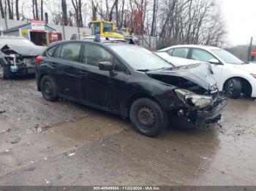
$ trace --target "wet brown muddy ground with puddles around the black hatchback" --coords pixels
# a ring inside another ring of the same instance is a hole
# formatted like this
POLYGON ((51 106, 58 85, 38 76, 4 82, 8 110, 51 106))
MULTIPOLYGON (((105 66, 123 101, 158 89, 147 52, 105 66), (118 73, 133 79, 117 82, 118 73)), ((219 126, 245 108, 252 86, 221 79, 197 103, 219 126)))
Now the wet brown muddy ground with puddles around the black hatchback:
POLYGON ((0 80, 0 185, 256 185, 256 102, 210 128, 141 136, 119 117, 0 80))

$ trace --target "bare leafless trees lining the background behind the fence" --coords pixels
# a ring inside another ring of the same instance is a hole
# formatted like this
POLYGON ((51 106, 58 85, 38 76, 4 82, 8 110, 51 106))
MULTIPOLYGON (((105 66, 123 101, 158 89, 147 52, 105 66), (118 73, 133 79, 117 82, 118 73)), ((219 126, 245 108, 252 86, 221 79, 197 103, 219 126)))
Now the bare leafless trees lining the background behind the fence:
POLYGON ((113 20, 166 44, 221 46, 226 31, 220 6, 221 0, 0 0, 0 16, 78 27, 113 20))

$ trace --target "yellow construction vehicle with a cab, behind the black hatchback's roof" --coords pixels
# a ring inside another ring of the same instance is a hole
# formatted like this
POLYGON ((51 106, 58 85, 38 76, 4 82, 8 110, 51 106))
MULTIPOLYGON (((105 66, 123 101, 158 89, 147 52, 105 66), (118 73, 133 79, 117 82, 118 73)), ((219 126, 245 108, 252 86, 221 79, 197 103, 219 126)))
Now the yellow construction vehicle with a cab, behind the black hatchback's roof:
POLYGON ((116 31, 116 26, 114 22, 105 20, 94 20, 89 23, 89 28, 91 28, 92 35, 99 34, 101 36, 124 39, 124 35, 116 31))

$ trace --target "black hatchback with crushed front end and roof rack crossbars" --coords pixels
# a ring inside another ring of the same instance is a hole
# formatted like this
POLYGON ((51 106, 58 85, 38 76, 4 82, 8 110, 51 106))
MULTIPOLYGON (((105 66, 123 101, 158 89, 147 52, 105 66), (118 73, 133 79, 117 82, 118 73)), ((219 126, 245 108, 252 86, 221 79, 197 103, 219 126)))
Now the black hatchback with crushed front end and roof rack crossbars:
POLYGON ((38 90, 119 114, 157 136, 173 123, 217 122, 227 106, 207 63, 174 67, 135 44, 56 42, 37 57, 38 90))

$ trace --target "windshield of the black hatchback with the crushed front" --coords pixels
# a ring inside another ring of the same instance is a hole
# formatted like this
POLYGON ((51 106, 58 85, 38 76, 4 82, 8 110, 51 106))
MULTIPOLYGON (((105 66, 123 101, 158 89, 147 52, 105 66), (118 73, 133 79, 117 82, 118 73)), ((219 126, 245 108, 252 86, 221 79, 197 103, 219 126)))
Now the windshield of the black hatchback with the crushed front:
POLYGON ((124 59, 135 70, 151 71, 157 69, 171 68, 170 63, 160 58, 143 47, 134 45, 110 45, 121 58, 124 59))

